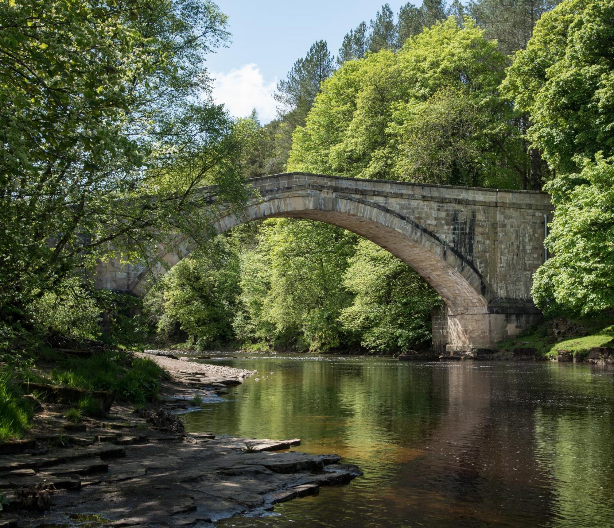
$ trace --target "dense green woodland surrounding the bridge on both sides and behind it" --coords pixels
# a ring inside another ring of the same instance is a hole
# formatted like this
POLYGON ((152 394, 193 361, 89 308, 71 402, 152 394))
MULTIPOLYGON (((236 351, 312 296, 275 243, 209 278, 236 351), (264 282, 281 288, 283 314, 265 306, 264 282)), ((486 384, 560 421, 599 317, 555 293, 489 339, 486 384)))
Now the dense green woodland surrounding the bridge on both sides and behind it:
POLYGON ((0 20, 6 351, 428 346, 440 298, 375 244, 292 219, 213 236, 197 187, 240 208, 245 179, 286 171, 543 188, 556 218, 535 303, 614 308, 613 0, 386 4, 336 55, 314 42, 266 125, 211 98, 204 58, 229 35, 209 0, 11 0, 0 20), (199 249, 142 305, 93 289, 97 260, 153 263, 177 231, 199 249))

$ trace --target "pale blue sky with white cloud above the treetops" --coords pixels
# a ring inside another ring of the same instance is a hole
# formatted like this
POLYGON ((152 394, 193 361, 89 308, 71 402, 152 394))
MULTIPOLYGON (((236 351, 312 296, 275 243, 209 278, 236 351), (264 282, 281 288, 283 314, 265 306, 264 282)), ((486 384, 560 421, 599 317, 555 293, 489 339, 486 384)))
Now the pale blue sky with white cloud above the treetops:
MULTIPOLYGON (((395 13, 405 1, 389 1, 395 13)), ((273 91, 292 64, 319 39, 335 53, 344 34, 375 18, 381 0, 218 0, 232 42, 208 57, 214 97, 235 117, 256 108, 263 123, 275 114, 273 91)), ((422 4, 421 0, 415 2, 422 4)))

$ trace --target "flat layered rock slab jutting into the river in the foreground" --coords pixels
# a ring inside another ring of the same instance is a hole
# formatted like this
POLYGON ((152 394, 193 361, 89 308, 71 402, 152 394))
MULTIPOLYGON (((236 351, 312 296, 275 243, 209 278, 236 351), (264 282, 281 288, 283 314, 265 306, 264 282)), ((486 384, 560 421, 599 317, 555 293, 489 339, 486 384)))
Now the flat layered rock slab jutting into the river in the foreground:
MULTIPOLYGON (((246 442, 270 448, 287 446, 298 439, 204 440, 126 446, 122 459, 72 458, 55 467, 39 468, 40 473, 34 477, 28 473, 13 479, 47 478, 66 483, 63 487, 68 489, 53 492, 58 515, 87 510, 106 519, 105 526, 190 526, 194 519, 215 522, 235 514, 270 511, 274 504, 317 494, 321 484, 344 483, 360 474, 355 466, 338 464, 340 457, 333 454, 244 451, 246 442), (80 482, 88 485, 82 485, 80 491, 69 489, 68 484, 78 486, 80 482)), ((68 452, 64 459, 72 456, 72 451, 94 453, 91 448, 58 451, 68 452)), ((59 459, 55 452, 45 463, 52 459, 59 459)))

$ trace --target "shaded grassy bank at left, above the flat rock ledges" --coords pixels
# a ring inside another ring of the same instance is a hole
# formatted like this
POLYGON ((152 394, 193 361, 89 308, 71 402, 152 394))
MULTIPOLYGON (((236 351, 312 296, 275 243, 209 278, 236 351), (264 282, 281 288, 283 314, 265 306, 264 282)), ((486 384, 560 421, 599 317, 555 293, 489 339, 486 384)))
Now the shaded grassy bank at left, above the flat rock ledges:
MULTIPOLYGON (((105 390, 114 392, 116 400, 140 406, 157 400, 160 381, 167 376, 152 360, 122 350, 86 350, 76 356, 40 349, 33 357, 0 364, 0 441, 23 437, 32 423, 33 410, 21 391, 22 382, 105 390)), ((96 405, 87 396, 66 411, 72 421, 95 414, 96 405)))

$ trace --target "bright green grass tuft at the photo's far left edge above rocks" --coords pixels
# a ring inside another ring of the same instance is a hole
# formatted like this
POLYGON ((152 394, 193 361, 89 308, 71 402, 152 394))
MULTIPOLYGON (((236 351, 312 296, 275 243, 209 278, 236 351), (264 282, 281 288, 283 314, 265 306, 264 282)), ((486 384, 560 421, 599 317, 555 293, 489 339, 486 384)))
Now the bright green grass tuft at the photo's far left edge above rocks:
POLYGON ((21 438, 30 425, 32 407, 22 396, 12 371, 0 371, 0 441, 21 438))

